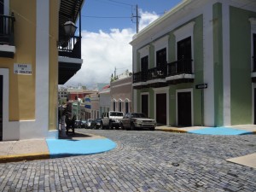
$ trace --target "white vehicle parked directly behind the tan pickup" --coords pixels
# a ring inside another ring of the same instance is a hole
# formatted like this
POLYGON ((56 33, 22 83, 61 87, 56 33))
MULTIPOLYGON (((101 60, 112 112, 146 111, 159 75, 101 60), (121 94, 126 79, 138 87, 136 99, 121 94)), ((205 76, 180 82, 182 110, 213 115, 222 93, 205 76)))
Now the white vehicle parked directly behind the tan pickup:
POLYGON ((117 112, 117 111, 109 111, 107 113, 102 113, 102 123, 101 128, 104 129, 105 127, 107 129, 113 129, 113 128, 119 128, 120 119, 122 119, 124 116, 123 112, 117 112))

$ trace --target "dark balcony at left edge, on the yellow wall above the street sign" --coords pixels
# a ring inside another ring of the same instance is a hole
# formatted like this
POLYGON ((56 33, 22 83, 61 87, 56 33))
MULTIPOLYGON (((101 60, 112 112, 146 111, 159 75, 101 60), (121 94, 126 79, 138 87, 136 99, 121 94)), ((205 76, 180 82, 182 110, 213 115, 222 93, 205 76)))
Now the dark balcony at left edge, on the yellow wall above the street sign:
POLYGON ((14 14, 0 15, 0 57, 15 56, 15 17, 14 14))

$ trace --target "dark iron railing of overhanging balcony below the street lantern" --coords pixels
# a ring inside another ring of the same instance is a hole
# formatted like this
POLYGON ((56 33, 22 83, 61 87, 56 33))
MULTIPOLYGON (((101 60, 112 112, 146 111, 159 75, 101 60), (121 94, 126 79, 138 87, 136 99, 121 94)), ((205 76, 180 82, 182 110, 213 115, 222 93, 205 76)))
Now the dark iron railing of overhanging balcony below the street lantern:
POLYGON ((81 38, 74 36, 59 43, 59 56, 81 59, 81 38))

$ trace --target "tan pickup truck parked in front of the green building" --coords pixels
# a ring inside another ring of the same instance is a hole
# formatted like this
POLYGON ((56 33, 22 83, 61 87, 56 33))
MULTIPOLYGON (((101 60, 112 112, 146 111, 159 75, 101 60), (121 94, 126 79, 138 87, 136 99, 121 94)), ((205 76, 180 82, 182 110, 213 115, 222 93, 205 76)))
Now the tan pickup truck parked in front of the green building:
POLYGON ((125 117, 120 122, 121 129, 150 129, 154 131, 156 121, 149 119, 144 113, 126 113, 125 117))

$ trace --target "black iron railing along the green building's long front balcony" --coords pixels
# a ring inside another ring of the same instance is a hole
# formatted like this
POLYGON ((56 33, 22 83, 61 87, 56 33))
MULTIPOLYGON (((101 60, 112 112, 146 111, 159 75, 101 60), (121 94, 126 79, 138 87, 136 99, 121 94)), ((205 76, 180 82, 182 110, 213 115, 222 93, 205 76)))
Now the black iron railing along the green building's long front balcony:
POLYGON ((193 60, 179 60, 163 64, 148 70, 133 73, 133 83, 145 82, 153 79, 165 79, 178 74, 192 74, 193 60))

